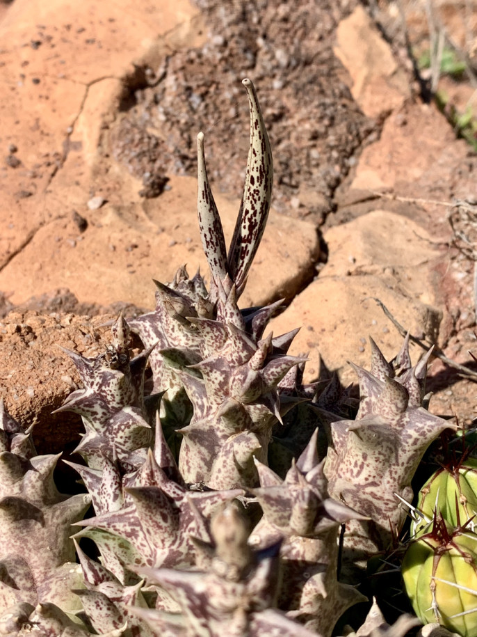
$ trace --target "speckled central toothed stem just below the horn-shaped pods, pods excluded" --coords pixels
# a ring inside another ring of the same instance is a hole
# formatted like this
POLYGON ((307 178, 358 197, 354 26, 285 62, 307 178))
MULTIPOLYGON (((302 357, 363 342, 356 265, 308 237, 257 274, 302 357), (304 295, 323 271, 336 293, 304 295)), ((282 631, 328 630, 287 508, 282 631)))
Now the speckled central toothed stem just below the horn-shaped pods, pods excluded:
MULTIPOLYGON (((225 306, 236 315, 233 289, 231 294, 225 306)), ((195 320, 195 325, 211 349, 192 368, 202 377, 179 372, 193 404, 191 423, 179 430, 184 437, 179 469, 186 482, 213 489, 256 486, 253 459, 266 462, 273 425, 295 404, 280 402, 278 384, 305 359, 276 354, 271 337, 255 344, 233 323, 195 320)))

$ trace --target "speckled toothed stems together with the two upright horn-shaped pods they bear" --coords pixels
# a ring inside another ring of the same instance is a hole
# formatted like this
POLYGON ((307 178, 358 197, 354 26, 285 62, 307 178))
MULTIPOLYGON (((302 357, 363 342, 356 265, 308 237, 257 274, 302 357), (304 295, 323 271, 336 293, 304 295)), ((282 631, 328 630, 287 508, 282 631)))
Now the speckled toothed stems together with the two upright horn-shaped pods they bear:
POLYGON ((151 354, 155 390, 166 391, 171 402, 184 388, 192 403, 190 423, 178 430, 181 474, 188 484, 213 489, 258 484, 253 459, 266 462, 273 426, 294 404, 280 402, 278 385, 303 360, 286 356, 294 333, 261 338, 277 304, 245 315, 237 306, 264 232, 273 181, 257 94, 250 80, 243 84, 250 102, 250 150, 228 254, 207 178, 204 136, 197 136, 197 212, 211 271, 209 297, 202 279, 188 282, 182 270, 174 287, 159 285, 154 313, 132 322, 145 345, 160 343, 151 354))

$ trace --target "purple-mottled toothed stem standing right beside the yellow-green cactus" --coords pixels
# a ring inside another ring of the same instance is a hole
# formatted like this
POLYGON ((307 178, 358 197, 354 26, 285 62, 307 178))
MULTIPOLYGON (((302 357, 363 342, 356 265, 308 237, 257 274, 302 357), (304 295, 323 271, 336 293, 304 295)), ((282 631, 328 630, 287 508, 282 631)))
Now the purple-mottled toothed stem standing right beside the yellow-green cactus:
POLYGON ((370 372, 353 365, 357 416, 330 424, 325 462, 330 495, 369 517, 350 520, 344 536, 349 561, 360 567, 401 531, 406 512, 399 498, 412 501, 411 481, 423 454, 441 432, 456 428, 421 406, 428 356, 412 367, 407 339, 394 365, 373 340, 371 348, 370 372))

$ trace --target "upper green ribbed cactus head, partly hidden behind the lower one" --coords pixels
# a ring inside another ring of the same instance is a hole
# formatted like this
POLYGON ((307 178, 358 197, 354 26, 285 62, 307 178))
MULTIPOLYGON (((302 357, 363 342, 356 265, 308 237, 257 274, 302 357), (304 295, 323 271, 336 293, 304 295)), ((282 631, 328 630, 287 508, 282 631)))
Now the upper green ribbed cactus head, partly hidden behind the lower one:
POLYGON ((413 521, 412 536, 426 533, 434 512, 451 526, 467 524, 474 531, 477 514, 477 459, 467 458, 453 469, 436 471, 419 491, 417 509, 424 519, 413 521), (427 519, 427 521, 426 521, 427 519))

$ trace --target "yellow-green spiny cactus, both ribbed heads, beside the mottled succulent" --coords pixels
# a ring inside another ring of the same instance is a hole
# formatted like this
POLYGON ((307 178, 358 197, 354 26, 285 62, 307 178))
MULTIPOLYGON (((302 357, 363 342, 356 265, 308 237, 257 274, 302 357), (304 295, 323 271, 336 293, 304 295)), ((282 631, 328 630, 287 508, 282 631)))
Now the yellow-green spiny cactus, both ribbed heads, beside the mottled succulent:
POLYGON ((462 453, 447 461, 419 491, 403 580, 414 611, 462 637, 477 634, 477 460, 462 453))

